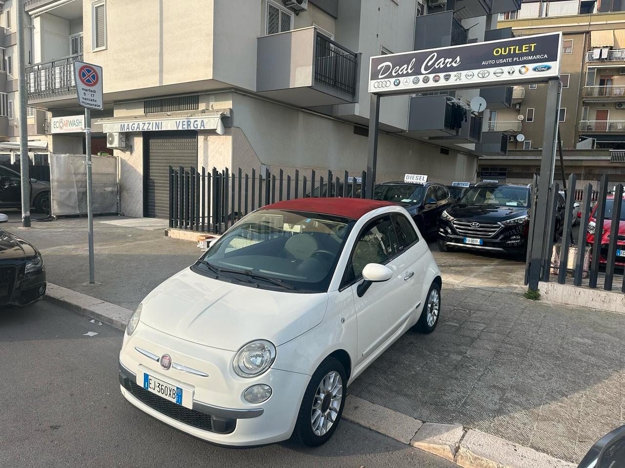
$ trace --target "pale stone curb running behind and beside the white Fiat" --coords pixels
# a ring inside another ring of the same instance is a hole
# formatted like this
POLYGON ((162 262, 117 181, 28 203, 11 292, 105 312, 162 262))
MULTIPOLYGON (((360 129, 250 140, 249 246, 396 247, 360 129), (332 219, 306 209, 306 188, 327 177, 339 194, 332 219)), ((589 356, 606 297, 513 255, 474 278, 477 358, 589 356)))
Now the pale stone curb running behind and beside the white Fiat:
MULTIPOLYGON (((133 311, 63 286, 47 283, 46 300, 119 330, 133 311)), ((463 468, 576 468, 557 459, 459 424, 424 422, 350 395, 343 416, 360 426, 456 463, 463 468)))

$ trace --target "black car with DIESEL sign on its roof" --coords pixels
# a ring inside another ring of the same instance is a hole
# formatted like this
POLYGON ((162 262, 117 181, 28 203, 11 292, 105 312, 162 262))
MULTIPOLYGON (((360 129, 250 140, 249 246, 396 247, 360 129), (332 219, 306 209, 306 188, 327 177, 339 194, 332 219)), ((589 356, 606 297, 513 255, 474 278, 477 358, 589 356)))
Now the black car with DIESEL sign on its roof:
POLYGON ((447 187, 436 182, 384 182, 376 185, 373 198, 406 208, 424 237, 436 236, 439 216, 455 201, 447 187))

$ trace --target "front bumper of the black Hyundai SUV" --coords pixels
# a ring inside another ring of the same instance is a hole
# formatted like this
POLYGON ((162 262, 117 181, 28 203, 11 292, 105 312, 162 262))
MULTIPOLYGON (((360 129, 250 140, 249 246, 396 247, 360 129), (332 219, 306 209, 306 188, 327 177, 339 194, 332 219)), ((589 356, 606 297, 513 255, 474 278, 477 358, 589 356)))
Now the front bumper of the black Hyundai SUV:
POLYGON ((438 241, 446 246, 511 254, 526 250, 527 225, 502 226, 494 235, 487 237, 471 236, 473 239, 481 240, 479 245, 466 243, 466 237, 457 232, 452 223, 447 220, 439 220, 438 241))

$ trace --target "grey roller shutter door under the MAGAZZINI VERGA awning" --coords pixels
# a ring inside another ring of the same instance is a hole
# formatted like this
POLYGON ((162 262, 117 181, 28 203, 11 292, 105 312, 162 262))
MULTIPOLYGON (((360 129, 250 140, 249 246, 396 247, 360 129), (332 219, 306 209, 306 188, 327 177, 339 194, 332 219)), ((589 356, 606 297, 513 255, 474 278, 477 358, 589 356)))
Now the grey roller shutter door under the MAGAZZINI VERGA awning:
POLYGON ((147 149, 146 217, 169 218, 169 166, 197 168, 197 134, 149 134, 147 149))

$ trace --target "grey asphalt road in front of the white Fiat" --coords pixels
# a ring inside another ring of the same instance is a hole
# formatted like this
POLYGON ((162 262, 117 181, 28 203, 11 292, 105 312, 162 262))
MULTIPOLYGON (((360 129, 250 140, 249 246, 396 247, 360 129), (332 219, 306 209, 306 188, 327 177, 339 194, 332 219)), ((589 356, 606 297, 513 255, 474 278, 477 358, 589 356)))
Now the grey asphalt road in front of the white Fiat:
POLYGON ((122 333, 47 302, 0 310, 0 466, 407 467, 455 465, 342 421, 317 449, 226 449, 160 424, 119 392, 122 333), (88 331, 98 333, 89 338, 88 331))

